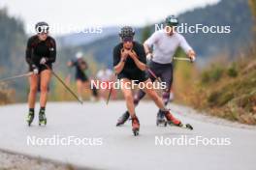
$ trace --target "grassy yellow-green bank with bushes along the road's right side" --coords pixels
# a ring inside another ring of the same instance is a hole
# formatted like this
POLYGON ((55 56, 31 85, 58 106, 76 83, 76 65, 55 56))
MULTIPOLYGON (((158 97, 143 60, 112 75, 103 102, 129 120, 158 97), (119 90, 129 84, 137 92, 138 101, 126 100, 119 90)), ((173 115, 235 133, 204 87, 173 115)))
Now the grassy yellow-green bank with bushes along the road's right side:
POLYGON ((256 125, 255 45, 236 57, 230 63, 227 56, 220 55, 203 71, 179 63, 174 86, 176 100, 214 116, 256 125))

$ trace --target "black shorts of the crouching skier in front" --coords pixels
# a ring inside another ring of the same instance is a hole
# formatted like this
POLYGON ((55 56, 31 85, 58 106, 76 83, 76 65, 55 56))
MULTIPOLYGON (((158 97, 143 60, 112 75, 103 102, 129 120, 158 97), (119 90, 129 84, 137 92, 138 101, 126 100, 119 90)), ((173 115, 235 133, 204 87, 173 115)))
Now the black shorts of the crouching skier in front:
POLYGON ((148 75, 142 71, 142 72, 120 72, 117 74, 118 79, 127 78, 129 80, 138 80, 138 83, 144 82, 149 77, 148 75))

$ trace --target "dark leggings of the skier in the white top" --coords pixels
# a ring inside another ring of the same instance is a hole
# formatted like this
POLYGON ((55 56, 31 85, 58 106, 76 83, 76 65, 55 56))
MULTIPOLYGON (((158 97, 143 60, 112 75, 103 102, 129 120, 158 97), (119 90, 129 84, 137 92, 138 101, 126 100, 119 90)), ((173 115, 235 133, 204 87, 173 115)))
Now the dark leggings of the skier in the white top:
MULTIPOLYGON (((173 83, 173 64, 158 64, 153 61, 149 64, 149 69, 155 73, 157 77, 160 77, 162 82, 166 82, 166 89, 163 91, 162 99, 164 100, 165 105, 168 104, 170 98, 170 90, 173 83)), ((155 81, 155 78, 147 72, 149 78, 152 82, 155 81)), ((138 105, 139 101, 144 98, 144 91, 139 90, 139 92, 134 96, 134 104, 138 105)))

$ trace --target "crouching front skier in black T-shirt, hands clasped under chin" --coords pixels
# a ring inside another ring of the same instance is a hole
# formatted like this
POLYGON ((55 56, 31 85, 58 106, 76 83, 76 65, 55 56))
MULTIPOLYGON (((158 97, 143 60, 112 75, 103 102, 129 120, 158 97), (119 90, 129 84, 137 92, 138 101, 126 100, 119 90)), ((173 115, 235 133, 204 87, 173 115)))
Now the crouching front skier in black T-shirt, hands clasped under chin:
POLYGON ((146 58, 144 46, 139 42, 134 42, 134 30, 130 26, 121 28, 119 36, 121 42, 118 43, 112 52, 113 68, 117 74, 117 78, 122 81, 121 90, 126 100, 126 106, 132 119, 132 130, 134 135, 139 134, 140 122, 135 114, 135 104, 133 101, 131 81, 136 80, 138 83, 143 83, 144 92, 152 99, 158 108, 164 113, 166 119, 172 122, 177 127, 183 127, 182 123, 177 120, 171 112, 166 109, 165 104, 157 93, 153 90, 153 85, 145 72, 146 58))

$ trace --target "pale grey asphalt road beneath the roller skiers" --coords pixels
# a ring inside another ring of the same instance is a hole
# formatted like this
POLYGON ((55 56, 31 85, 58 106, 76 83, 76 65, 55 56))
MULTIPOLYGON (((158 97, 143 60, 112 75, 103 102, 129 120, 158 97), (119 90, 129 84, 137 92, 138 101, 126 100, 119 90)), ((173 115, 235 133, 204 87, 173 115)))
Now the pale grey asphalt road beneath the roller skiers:
POLYGON ((222 123, 179 105, 171 108, 194 130, 156 127, 152 102, 137 108, 141 130, 136 137, 131 121, 115 127, 125 109, 123 101, 108 106, 48 103, 47 127, 38 126, 37 116, 32 127, 26 125, 26 104, 1 106, 0 149, 97 169, 256 169, 256 128, 222 123))

